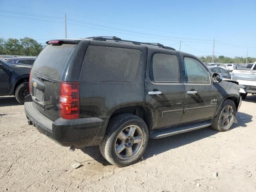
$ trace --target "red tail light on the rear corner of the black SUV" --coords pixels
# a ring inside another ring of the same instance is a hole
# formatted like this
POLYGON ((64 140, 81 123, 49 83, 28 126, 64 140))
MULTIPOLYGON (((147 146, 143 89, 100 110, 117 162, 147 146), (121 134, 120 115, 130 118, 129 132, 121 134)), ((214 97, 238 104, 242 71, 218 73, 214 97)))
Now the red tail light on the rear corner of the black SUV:
POLYGON ((60 117, 64 119, 78 119, 79 105, 78 82, 61 82, 60 117))

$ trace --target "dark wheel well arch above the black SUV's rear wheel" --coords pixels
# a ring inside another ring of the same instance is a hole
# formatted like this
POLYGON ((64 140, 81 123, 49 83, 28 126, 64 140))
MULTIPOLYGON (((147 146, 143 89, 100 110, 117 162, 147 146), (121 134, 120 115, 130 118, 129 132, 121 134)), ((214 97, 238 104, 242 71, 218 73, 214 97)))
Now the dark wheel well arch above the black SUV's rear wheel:
POLYGON ((150 132, 153 124, 153 115, 152 115, 152 111, 148 107, 128 106, 128 107, 119 108, 112 113, 112 115, 110 116, 110 119, 122 113, 130 113, 142 118, 148 127, 148 132, 150 132))

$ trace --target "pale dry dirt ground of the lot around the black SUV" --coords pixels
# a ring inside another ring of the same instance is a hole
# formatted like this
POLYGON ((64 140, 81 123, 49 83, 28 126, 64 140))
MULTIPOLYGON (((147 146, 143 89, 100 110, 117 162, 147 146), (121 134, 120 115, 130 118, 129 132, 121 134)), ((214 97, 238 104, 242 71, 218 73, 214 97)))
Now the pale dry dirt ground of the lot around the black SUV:
POLYGON ((149 140, 143 160, 118 168, 98 147, 56 145, 27 125, 14 97, 0 97, 0 191, 253 192, 256 96, 243 101, 237 121, 228 132, 209 127, 149 140))

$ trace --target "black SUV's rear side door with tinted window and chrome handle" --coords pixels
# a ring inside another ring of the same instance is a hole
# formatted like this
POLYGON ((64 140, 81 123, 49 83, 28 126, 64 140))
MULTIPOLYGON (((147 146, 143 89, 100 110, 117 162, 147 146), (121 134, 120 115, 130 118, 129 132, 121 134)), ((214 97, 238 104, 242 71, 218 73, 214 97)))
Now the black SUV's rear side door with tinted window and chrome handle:
POLYGON ((180 124, 184 108, 184 84, 180 58, 175 51, 154 52, 148 48, 145 99, 154 121, 152 129, 180 124))

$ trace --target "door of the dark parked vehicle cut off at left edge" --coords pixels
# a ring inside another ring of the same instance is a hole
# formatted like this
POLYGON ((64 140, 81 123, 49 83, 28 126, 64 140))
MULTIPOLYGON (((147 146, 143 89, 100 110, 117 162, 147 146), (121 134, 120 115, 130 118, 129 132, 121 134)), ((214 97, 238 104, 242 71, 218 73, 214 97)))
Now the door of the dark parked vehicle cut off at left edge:
POLYGON ((0 94, 10 93, 10 72, 6 64, 0 62, 4 68, 0 69, 0 94))

